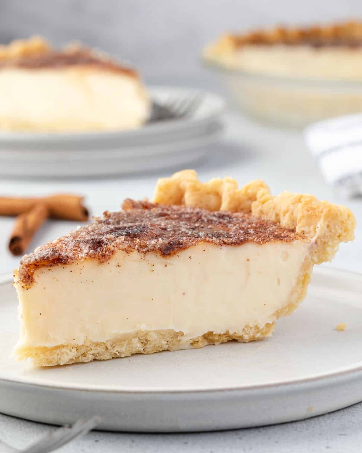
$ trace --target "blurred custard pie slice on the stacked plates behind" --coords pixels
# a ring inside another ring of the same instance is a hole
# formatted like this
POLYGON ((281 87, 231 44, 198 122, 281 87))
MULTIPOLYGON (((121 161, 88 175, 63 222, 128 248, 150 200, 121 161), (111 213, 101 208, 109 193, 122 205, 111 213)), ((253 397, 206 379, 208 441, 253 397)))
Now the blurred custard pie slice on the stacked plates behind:
POLYGON ((41 38, 0 46, 0 130, 86 132, 134 129, 149 117, 138 73, 80 45, 41 38))

